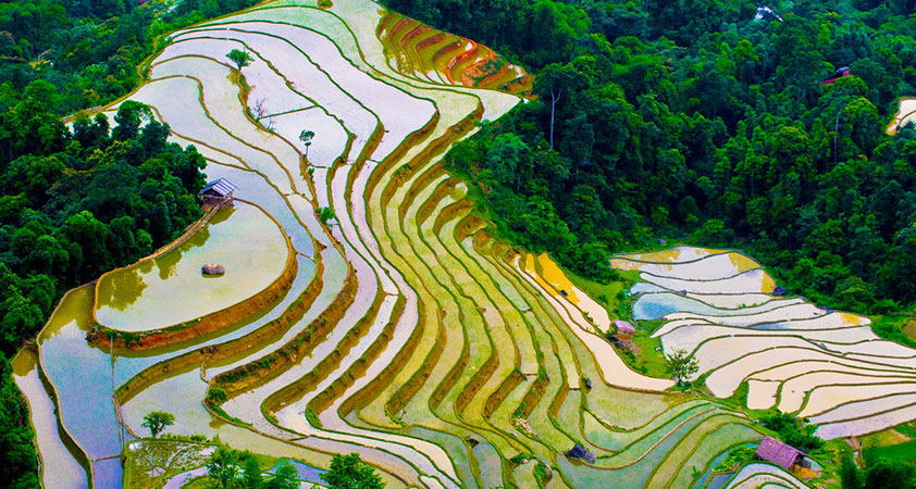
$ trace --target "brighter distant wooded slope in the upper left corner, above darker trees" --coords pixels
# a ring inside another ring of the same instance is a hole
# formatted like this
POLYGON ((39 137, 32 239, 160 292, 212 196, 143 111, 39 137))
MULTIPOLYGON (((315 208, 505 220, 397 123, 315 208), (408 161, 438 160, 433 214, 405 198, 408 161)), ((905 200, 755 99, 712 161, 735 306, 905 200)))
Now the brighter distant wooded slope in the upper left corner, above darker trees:
POLYGON ((52 105, 58 113, 106 103, 137 85, 137 66, 152 52, 157 36, 257 0, 139 3, 0 1, 0 100, 3 92, 44 79, 58 87, 52 105))

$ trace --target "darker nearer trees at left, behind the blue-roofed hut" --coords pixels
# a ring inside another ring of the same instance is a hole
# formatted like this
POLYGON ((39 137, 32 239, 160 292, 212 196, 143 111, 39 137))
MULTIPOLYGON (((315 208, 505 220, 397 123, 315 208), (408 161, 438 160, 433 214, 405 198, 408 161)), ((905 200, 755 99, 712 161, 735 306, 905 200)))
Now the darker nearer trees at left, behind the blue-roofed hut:
POLYGON ((0 115, 0 450, 13 487, 34 487, 35 454, 8 355, 34 337, 70 288, 132 263, 200 217, 203 158, 166 141, 149 109, 127 102, 71 131, 36 80, 0 115), (17 474, 17 475, 16 475, 17 474), (24 480, 17 486, 17 480, 24 480))

